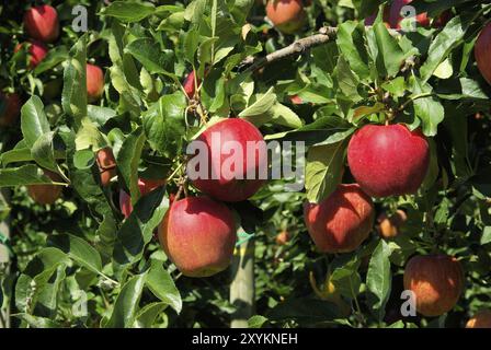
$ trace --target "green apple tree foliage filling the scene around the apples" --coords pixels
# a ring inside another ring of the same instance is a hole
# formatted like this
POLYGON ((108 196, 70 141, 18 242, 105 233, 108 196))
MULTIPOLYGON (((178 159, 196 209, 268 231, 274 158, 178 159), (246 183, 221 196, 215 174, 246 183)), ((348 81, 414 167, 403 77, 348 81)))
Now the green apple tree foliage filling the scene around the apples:
MULTIPOLYGON (((176 190, 172 173, 182 171, 184 147, 201 130, 181 86, 193 69, 208 118, 243 117, 267 140, 308 147, 305 192, 287 192, 283 180, 271 180, 251 203, 235 207, 242 225, 255 231, 258 315, 250 326, 434 326, 420 317, 401 319, 398 311, 407 259, 436 248, 457 255, 468 271, 466 295, 446 325, 461 326, 490 306, 491 89, 472 54, 489 4, 415 0, 421 12, 452 10, 453 19, 442 28, 395 33, 381 16, 373 27, 363 25, 384 1, 312 1, 309 25, 294 37, 264 22, 263 5, 252 0, 85 2, 89 33, 65 26, 34 71, 22 68, 25 57, 1 51, 1 88, 16 86, 25 97, 20 128, 1 131, 0 145, 0 186, 16 186, 9 210, 20 267, 14 290, 2 287, 2 293, 14 293, 20 326, 228 325, 235 311, 229 273, 180 277, 153 236, 176 190), (321 25, 338 26, 329 43, 258 71, 243 65, 321 25), (87 103, 87 60, 104 67, 100 103, 87 103), (48 82, 59 89, 52 96, 48 82), (292 102, 295 95, 301 104, 292 102), (377 212, 403 208, 409 221, 392 241, 374 230, 357 252, 321 256, 302 223, 302 202, 320 201, 352 180, 345 167, 351 136, 387 117, 421 127, 432 139, 432 171, 418 196, 376 201, 377 212), (112 188, 100 186, 94 160, 106 145, 118 168, 112 188), (49 208, 33 205, 21 186, 50 184, 41 167, 64 178, 64 199, 49 208), (140 197, 142 174, 170 182, 140 197), (126 220, 116 187, 133 198, 126 220), (290 233, 286 245, 275 244, 282 230, 290 233), (82 298, 77 291, 85 292, 87 315, 72 308, 82 298)), ((54 3, 62 19, 70 18, 68 3, 54 3)), ((9 4, 1 15, 19 16, 13 12, 9 4)), ((22 38, 11 22, 1 33, 22 38)))

